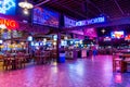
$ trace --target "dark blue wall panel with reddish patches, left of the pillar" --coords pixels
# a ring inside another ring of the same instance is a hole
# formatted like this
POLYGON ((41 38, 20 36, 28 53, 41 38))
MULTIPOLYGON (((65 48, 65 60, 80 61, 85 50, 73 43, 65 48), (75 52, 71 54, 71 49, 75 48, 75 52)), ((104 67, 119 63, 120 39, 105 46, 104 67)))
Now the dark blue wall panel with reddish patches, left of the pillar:
POLYGON ((32 15, 32 23, 58 27, 58 13, 51 11, 47 8, 35 8, 32 15))

